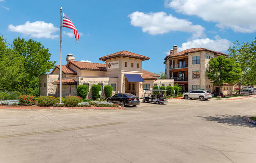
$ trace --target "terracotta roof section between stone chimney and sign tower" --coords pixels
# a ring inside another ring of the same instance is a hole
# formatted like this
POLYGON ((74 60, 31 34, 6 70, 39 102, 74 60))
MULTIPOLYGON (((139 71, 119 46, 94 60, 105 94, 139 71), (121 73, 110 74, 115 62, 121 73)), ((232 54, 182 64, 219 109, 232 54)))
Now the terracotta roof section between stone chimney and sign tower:
POLYGON ((104 63, 91 63, 91 62, 79 62, 79 61, 69 61, 67 66, 69 64, 73 64, 79 69, 86 69, 86 70, 99 70, 99 71, 106 71, 106 64, 104 63))

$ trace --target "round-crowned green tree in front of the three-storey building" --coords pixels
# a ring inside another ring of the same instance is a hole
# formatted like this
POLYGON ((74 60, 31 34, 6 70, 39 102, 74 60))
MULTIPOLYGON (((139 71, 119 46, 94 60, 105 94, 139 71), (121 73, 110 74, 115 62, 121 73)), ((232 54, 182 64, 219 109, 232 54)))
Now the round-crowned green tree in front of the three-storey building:
POLYGON ((211 58, 206 74, 214 85, 219 85, 220 92, 220 86, 223 83, 233 83, 240 78, 241 68, 234 59, 220 55, 217 58, 211 58))

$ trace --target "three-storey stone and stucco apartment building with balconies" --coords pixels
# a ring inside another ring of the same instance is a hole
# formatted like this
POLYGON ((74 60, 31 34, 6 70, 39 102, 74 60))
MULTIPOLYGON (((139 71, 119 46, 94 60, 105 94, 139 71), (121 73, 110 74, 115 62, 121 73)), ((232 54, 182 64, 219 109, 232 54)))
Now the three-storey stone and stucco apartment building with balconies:
POLYGON ((174 84, 182 85, 185 92, 195 89, 208 91, 218 89, 218 86, 213 87, 206 76, 206 71, 210 58, 219 55, 229 56, 228 54, 201 47, 177 53, 177 46, 174 45, 173 49, 170 50, 170 54, 164 58, 166 78, 174 79, 174 84))

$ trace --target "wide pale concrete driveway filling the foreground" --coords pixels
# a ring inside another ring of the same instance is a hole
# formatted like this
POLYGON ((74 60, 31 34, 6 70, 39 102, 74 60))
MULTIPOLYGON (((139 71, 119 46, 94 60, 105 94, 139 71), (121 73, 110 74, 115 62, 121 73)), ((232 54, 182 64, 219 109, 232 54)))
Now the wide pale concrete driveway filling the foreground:
POLYGON ((245 163, 256 97, 126 110, 0 110, 0 163, 245 163))

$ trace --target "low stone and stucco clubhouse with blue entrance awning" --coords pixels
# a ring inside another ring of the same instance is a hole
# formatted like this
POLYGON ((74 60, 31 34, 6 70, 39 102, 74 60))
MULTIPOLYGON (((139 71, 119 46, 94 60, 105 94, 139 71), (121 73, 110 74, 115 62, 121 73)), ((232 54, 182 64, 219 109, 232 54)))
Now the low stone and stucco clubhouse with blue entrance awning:
MULTIPOLYGON (((77 95, 77 85, 88 85, 88 98, 91 98, 91 85, 111 85, 113 94, 133 93, 143 96, 143 90, 152 89, 154 85, 173 86, 173 79, 157 79, 157 74, 142 69, 142 63, 149 57, 120 51, 99 58, 105 63, 75 61, 73 54, 66 57, 67 64, 62 65, 62 97, 77 95)), ((57 65, 50 74, 39 78, 40 96, 59 96, 59 72, 57 65)))

